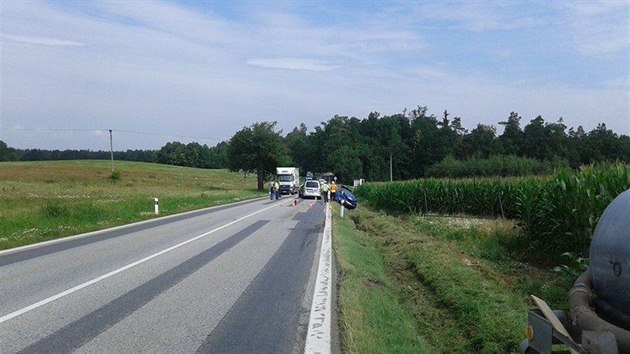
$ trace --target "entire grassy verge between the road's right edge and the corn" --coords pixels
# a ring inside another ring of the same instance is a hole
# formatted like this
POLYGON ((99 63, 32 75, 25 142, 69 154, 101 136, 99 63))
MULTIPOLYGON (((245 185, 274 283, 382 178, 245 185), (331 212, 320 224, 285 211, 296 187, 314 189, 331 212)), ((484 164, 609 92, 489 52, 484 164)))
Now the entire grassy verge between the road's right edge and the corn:
POLYGON ((427 352, 516 352, 525 336, 529 294, 566 307, 569 281, 524 262, 519 252, 526 245, 509 222, 396 218, 359 208, 334 223, 348 352, 419 352, 393 345, 373 350, 359 343, 398 332, 417 338, 427 352), (374 264, 379 272, 370 270, 374 264), (377 293, 405 321, 378 324, 385 318, 382 303, 359 301, 377 293), (378 321, 365 319, 374 313, 378 321))

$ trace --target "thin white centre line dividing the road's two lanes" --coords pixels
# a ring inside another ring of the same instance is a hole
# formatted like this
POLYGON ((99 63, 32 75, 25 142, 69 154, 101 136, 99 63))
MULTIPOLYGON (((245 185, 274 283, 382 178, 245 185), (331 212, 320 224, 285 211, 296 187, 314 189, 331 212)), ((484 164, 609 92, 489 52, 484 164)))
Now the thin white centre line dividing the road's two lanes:
POLYGON ((208 236, 208 235, 210 235, 210 234, 212 234, 212 233, 214 233, 214 232, 217 232, 217 231, 219 231, 219 230, 221 230, 221 229, 224 229, 224 228, 226 228, 226 227, 228 227, 228 226, 234 225, 234 224, 236 224, 237 222, 243 221, 243 220, 245 220, 245 219, 249 218, 250 216, 256 215, 256 214, 258 214, 258 213, 262 213, 263 211, 268 210, 268 209, 271 209, 271 208, 274 208, 274 207, 276 207, 276 205, 275 205, 275 204, 274 204, 274 205, 272 205, 272 206, 266 207, 266 208, 264 208, 264 209, 261 209, 261 210, 255 211, 255 212, 253 212, 253 213, 251 213, 251 214, 245 215, 245 216, 243 216, 243 217, 241 217, 241 218, 239 218, 239 219, 236 219, 236 220, 234 220, 234 221, 231 221, 231 222, 229 222, 229 223, 227 223, 227 224, 225 224, 225 225, 223 225, 223 226, 219 226, 219 227, 217 227, 216 229, 213 229, 213 230, 211 230, 211 231, 208 231, 208 232, 206 232, 206 233, 204 233, 204 234, 201 234, 201 235, 199 235, 199 236, 195 236, 195 237, 193 237, 193 238, 191 238, 191 239, 189 239, 189 240, 186 240, 186 241, 184 241, 184 242, 182 242, 182 243, 178 243, 178 244, 177 244, 177 245, 175 245, 175 246, 169 247, 169 248, 164 249, 164 250, 162 250, 162 251, 160 251, 160 252, 154 253, 154 254, 152 254, 152 255, 150 255, 150 256, 148 256, 148 257, 145 257, 145 258, 142 258, 142 259, 140 259, 140 260, 138 260, 138 261, 135 261, 135 262, 133 262, 133 263, 127 264, 127 265, 126 265, 126 266, 124 266, 124 267, 118 268, 118 269, 116 269, 116 270, 114 270, 114 271, 111 271, 111 272, 109 272, 109 273, 107 273, 107 274, 101 275, 100 277, 94 278, 94 279, 92 279, 92 280, 90 280, 90 281, 87 281, 87 282, 85 282, 85 283, 83 283, 83 284, 77 285, 77 286, 75 286, 74 288, 71 288, 71 289, 68 289, 68 290, 66 290, 66 291, 60 292, 60 293, 58 293, 58 294, 56 294, 56 295, 53 295, 53 296, 51 296, 51 297, 49 297, 49 298, 46 298, 46 299, 41 300, 41 301, 38 301, 38 302, 36 302, 36 303, 34 303, 34 304, 30 305, 30 306, 24 307, 24 308, 22 308, 22 309, 20 309, 20 310, 17 310, 17 311, 15 311, 15 312, 11 312, 11 313, 10 313, 10 314, 8 314, 8 315, 5 315, 5 316, 0 317, 0 323, 6 322, 6 321, 8 321, 8 320, 10 320, 10 319, 12 319, 12 318, 14 318, 14 317, 17 317, 17 316, 20 316, 20 315, 22 315, 22 314, 25 314, 25 313, 27 313, 27 312, 29 312, 29 311, 31 311, 31 310, 34 310, 34 309, 36 309, 36 308, 38 308, 38 307, 40 307, 40 306, 46 305, 46 304, 47 304, 47 303, 49 303, 49 302, 55 301, 55 300, 57 300, 57 299, 60 299, 60 298, 62 298, 62 297, 64 297, 64 296, 66 296, 66 295, 70 295, 70 294, 74 293, 75 291, 79 291, 79 290, 81 290, 81 289, 83 289, 83 288, 86 288, 86 287, 88 287, 88 286, 92 285, 92 284, 98 283, 98 282, 99 282, 99 281, 101 281, 101 280, 107 279, 107 278, 109 278, 109 277, 111 277, 111 276, 114 276, 114 275, 116 275, 116 274, 118 274, 118 273, 124 272, 125 270, 127 270, 127 269, 129 269, 129 268, 133 268, 133 267, 135 267, 135 266, 137 266, 137 265, 139 265, 139 264, 142 264, 142 263, 144 263, 144 262, 146 262, 146 261, 148 261, 148 260, 150 260, 150 259, 153 259, 153 258, 155 258, 155 257, 161 256, 161 255, 163 255, 163 254, 165 254, 165 253, 167 253, 167 252, 170 252, 170 251, 172 251, 172 250, 174 250, 174 249, 176 249, 176 248, 179 248, 179 247, 181 247, 181 246, 183 246, 183 245, 186 245, 186 244, 188 244, 188 243, 191 243, 191 242, 193 242, 193 241, 196 241, 196 240, 198 240, 198 239, 200 239, 200 238, 202 238, 202 237, 206 237, 206 236, 208 236))

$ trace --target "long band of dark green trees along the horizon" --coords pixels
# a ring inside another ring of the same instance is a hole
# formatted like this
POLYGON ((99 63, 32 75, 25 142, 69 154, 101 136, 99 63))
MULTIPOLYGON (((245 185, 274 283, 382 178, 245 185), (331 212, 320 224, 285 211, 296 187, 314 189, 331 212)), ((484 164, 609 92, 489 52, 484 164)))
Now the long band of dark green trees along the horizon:
MULTIPOLYGON (((523 125, 522 117, 511 112, 498 126, 503 127, 501 134, 495 126, 485 124, 468 131, 461 117, 451 118, 446 110, 438 117, 429 114, 427 107, 418 106, 388 116, 372 112, 362 119, 336 115, 312 131, 302 123, 286 135, 277 129, 276 122, 258 122, 214 147, 169 142, 159 150, 117 151, 114 158, 229 168, 256 173, 259 184, 280 165, 298 166, 302 171, 331 171, 348 182, 358 178, 389 180, 390 164, 393 179, 406 180, 448 175, 457 161, 477 166, 470 169, 477 171, 474 174, 488 165, 480 161, 492 159, 525 166, 523 171, 547 171, 549 166, 577 168, 602 161, 630 162, 630 137, 613 132, 604 123, 587 132, 581 126, 567 127, 562 118, 546 122, 537 116, 523 125), (532 161, 546 163, 546 167, 532 161)), ((13 149, 0 141, 0 161, 109 157, 109 151, 13 149)), ((461 166, 456 170, 457 176, 468 173, 466 169, 461 172, 461 166)))

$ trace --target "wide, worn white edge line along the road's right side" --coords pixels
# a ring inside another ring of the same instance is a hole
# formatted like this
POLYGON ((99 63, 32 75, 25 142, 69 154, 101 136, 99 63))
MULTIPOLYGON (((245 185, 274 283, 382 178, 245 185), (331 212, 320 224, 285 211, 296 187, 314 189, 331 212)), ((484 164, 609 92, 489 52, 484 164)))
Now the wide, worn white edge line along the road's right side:
POLYGON ((326 208, 324 238, 319 253, 319 266, 311 316, 308 321, 308 333, 304 353, 330 353, 331 297, 332 297, 332 219, 329 204, 326 208))

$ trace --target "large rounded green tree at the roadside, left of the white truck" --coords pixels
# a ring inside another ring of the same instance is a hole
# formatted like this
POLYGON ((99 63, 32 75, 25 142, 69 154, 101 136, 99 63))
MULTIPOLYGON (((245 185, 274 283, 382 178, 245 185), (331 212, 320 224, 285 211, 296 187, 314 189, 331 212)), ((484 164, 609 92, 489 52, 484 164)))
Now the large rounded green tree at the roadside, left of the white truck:
POLYGON ((275 173, 281 165, 291 163, 282 131, 276 131, 277 122, 254 123, 244 127, 232 138, 227 147, 227 165, 231 171, 256 173, 259 191, 264 188, 265 176, 275 173))

